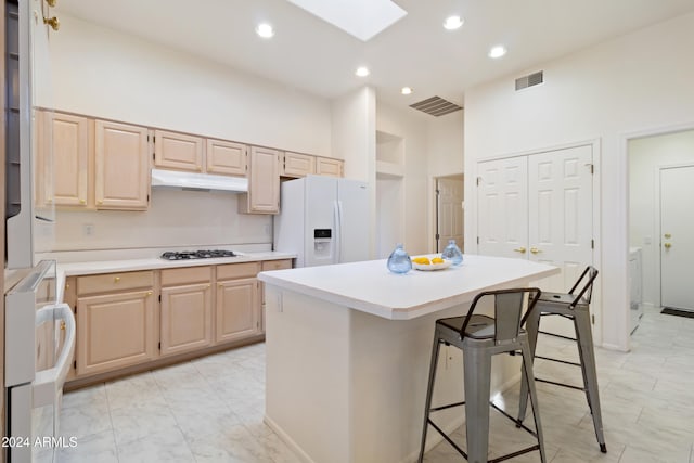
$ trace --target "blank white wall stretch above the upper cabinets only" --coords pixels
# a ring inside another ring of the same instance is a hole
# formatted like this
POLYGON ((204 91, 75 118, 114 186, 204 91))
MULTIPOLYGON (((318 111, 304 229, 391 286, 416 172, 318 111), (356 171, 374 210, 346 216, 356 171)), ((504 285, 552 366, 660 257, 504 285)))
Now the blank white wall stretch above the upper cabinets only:
POLYGON ((327 100, 64 15, 51 56, 57 108, 331 155, 327 100))

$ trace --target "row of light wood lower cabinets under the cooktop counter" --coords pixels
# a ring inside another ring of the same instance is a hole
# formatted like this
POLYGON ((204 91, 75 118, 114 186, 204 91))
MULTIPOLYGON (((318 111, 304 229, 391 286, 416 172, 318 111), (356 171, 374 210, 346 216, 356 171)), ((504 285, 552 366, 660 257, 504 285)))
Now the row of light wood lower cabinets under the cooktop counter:
POLYGON ((75 308, 77 342, 68 381, 261 339, 257 274, 291 267, 279 259, 69 276, 64 299, 75 308))

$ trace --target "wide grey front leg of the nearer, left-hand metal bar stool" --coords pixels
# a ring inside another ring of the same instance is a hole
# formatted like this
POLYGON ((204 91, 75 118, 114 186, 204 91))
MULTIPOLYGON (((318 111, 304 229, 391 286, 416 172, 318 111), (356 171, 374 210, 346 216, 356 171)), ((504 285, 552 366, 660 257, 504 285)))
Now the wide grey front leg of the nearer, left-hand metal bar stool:
POLYGON ((491 355, 488 351, 465 346, 463 362, 467 461, 485 463, 489 451, 491 355), (474 425, 471 426, 471 423, 474 425))

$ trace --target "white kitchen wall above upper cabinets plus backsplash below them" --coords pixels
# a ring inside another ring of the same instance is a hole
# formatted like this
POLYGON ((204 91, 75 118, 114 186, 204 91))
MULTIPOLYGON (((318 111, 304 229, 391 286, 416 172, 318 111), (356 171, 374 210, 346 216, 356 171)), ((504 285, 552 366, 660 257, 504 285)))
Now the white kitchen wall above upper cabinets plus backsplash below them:
MULTIPOLYGON (((156 43, 61 15, 52 88, 36 104, 331 156, 331 103, 156 43)), ((40 63, 38 63, 40 64, 40 63)), ((270 216, 236 214, 230 193, 153 192, 150 210, 60 211, 50 249, 271 243, 270 216), (94 234, 82 233, 85 224, 94 234)))

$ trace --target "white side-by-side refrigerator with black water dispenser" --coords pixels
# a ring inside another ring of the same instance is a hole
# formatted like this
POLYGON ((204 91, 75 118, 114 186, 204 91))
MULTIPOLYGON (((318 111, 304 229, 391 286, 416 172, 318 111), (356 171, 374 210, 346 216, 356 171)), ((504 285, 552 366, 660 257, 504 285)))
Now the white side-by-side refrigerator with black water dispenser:
POLYGON ((297 255, 296 267, 369 260, 369 184, 307 176, 282 183, 274 250, 297 255))

